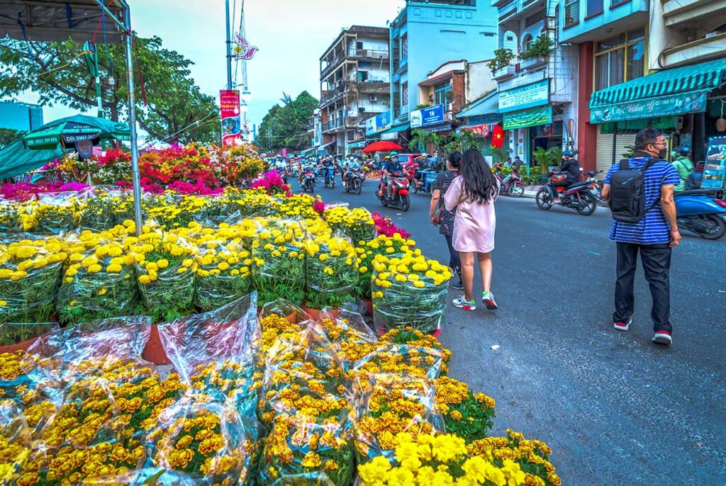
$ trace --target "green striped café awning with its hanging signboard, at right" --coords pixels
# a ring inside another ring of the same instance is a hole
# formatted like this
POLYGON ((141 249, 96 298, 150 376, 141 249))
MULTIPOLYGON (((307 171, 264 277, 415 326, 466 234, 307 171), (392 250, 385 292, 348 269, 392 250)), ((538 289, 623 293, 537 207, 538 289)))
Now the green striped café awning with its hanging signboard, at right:
POLYGON ((706 93, 726 83, 726 62, 717 59, 674 67, 595 91, 590 120, 635 120, 706 109, 706 93))

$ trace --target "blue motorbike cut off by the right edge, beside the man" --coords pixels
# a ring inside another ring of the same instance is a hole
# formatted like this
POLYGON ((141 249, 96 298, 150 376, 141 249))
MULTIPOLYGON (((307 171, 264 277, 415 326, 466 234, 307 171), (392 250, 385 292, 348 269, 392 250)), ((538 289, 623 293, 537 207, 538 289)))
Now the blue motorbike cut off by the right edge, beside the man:
POLYGON ((693 189, 674 194, 678 226, 704 239, 726 234, 726 201, 714 189, 693 189))

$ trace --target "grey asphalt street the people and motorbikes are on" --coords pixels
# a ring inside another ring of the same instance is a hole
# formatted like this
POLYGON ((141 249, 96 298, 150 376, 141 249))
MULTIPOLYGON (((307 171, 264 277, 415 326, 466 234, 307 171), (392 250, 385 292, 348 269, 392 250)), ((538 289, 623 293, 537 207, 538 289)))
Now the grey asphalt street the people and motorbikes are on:
MULTIPOLYGON (((448 261, 428 221, 429 197, 412 195, 401 213, 380 205, 376 181, 361 195, 339 183, 317 192, 390 216, 425 255, 448 261)), ((724 485, 726 240, 684 234, 674 250, 674 345, 662 347, 650 342, 642 268, 633 325, 612 327, 610 223, 603 207, 586 217, 500 198, 492 285, 499 310, 449 305, 440 339, 453 353, 450 374, 497 400, 495 434, 511 428, 547 442, 564 484, 724 485)))

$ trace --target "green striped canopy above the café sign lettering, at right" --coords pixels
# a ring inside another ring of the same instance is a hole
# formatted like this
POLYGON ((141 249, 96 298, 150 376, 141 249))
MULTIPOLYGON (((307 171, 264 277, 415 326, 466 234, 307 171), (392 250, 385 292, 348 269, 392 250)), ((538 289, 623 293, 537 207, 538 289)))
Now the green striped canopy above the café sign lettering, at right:
POLYGON ((595 91, 590 96, 590 110, 658 96, 695 94, 719 88, 724 83, 726 83, 724 59, 674 67, 595 91))

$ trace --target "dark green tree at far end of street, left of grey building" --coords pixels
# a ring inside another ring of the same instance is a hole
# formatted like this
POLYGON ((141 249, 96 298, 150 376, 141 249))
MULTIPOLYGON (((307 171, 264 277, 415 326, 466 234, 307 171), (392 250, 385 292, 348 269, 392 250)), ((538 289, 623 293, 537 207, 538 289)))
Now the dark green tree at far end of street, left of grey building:
POLYGON ((264 151, 301 150, 309 147, 307 125, 318 107, 318 100, 307 91, 284 106, 275 104, 262 119, 256 144, 264 151))

